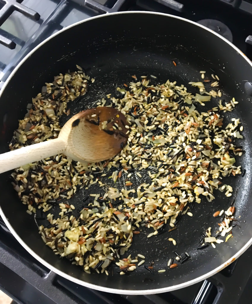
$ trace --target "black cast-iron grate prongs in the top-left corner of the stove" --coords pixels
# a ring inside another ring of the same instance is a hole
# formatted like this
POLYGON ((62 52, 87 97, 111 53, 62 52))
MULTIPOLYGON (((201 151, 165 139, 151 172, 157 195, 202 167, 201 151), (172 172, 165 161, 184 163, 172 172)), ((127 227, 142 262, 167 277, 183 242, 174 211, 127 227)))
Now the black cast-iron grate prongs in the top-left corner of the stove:
MULTIPOLYGON (((14 12, 18 11, 24 16, 31 18, 33 20, 39 20, 40 14, 29 9, 25 5, 22 5, 23 0, 0 0, 2 8, 0 9, 0 26, 6 21, 7 18, 14 12)), ((0 35, 0 43, 9 47, 9 49, 15 49, 16 43, 2 35, 0 35)))

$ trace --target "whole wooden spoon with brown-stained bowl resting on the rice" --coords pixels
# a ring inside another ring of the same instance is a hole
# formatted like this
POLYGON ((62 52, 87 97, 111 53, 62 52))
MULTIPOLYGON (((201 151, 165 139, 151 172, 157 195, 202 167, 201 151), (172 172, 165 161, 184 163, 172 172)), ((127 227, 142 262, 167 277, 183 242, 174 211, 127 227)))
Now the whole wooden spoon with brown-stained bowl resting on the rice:
POLYGON ((111 107, 82 111, 47 140, 0 154, 0 173, 63 153, 75 161, 98 162, 115 156, 127 142, 125 116, 111 107))

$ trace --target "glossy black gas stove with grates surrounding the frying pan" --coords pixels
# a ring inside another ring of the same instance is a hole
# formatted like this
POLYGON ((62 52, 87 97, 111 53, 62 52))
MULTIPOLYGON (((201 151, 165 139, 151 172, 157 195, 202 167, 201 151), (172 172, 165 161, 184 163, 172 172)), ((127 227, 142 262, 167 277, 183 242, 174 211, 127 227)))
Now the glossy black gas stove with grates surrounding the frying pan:
MULTIPOLYGON (((102 13, 154 11, 203 24, 252 60, 250 0, 0 0, 0 88, 19 61, 60 29, 102 13)), ((0 289, 16 303, 247 304, 252 299, 252 247, 231 265, 195 285, 156 295, 117 295, 85 288, 36 261, 0 218, 0 289)))

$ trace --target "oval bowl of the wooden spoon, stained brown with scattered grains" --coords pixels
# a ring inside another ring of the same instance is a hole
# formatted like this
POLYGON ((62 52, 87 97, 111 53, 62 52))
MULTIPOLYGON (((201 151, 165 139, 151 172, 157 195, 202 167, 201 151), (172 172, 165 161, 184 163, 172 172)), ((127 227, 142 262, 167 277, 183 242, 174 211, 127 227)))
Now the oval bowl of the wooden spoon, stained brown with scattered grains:
POLYGON ((88 109, 74 115, 58 136, 67 142, 65 154, 76 161, 98 162, 119 153, 128 138, 126 118, 111 107, 88 109))

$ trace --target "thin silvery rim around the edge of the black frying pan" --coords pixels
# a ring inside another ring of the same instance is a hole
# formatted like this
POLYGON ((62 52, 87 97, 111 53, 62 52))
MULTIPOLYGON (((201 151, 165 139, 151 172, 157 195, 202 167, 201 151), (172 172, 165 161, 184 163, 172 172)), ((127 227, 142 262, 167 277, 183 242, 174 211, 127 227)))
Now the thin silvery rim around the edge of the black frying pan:
MULTIPOLYGON (((102 15, 98 15, 98 16, 94 16, 94 17, 90 17, 88 19, 84 19, 78 22, 75 22, 67 27, 65 27, 64 29, 61 29, 60 31, 54 33, 53 35, 49 36, 47 39, 43 40, 41 43, 39 43, 32 51, 30 51, 20 62, 19 64, 17 64, 17 66, 14 68, 14 70, 11 72, 11 74, 9 75, 9 77, 7 78, 7 80, 4 82, 1 90, 0 90, 0 98, 2 96, 2 93, 4 91, 4 89, 6 88, 6 86, 8 85, 9 81, 11 80, 12 76, 16 73, 16 71, 19 69, 19 67, 37 50, 39 49, 44 43, 46 43, 47 41, 49 41, 50 39, 54 38, 54 36, 57 36, 58 34, 64 32, 67 29, 70 29, 73 26, 77 26, 81 23, 96 19, 96 18, 104 18, 106 16, 110 16, 110 15, 118 15, 118 14, 153 14, 153 15, 161 15, 161 16, 166 16, 169 18, 174 18, 174 19, 180 19, 182 21, 185 22, 189 22, 194 24, 195 26, 199 26, 205 30, 207 30, 208 32, 216 35, 217 37, 219 37, 220 39, 224 40, 226 43, 228 43, 231 47, 233 47, 234 50, 236 50, 236 52, 241 55, 246 61, 247 63, 251 66, 252 68, 252 62, 249 60, 249 58, 243 54, 243 52, 237 48, 233 43, 231 43, 229 40, 227 40, 226 38, 224 38, 223 36, 219 35, 218 33, 214 32, 211 29, 208 29, 207 27, 198 24, 194 21, 191 21, 189 19, 185 19, 179 16, 174 16, 171 14, 165 14, 165 13, 160 13, 160 12, 146 12, 146 11, 126 11, 126 12, 113 12, 113 13, 109 13, 109 14, 102 14, 102 15)), ((38 254, 36 254, 22 239, 21 237, 19 237, 19 235, 16 233, 16 231, 13 229, 13 227, 11 226, 11 224, 9 223, 9 220, 6 218, 4 212, 2 211, 2 208, 0 206, 0 216, 2 217, 4 223, 6 224, 6 226, 8 227, 8 229, 10 230, 10 232, 13 234, 13 236, 18 240, 19 244, 22 245, 22 247, 24 247, 29 254, 31 254, 33 257, 35 257, 41 264, 45 265, 47 268, 50 269, 50 271, 53 271, 54 273, 56 273, 57 275, 60 275, 61 277, 66 278, 67 280, 74 282, 78 285, 82 285, 91 289, 96 289, 98 291, 102 291, 102 292, 110 292, 110 293, 116 293, 116 294, 124 294, 124 295, 139 295, 139 294, 144 294, 144 295, 148 295, 148 294, 156 294, 156 293, 162 293, 162 292, 170 292, 173 290, 177 290, 177 289, 181 289, 181 288, 185 288, 188 287, 190 285, 196 284, 198 282, 201 282, 209 277, 211 277, 212 275, 215 275, 217 272, 221 271, 222 269, 224 269, 225 267, 227 267, 229 264, 231 264, 233 261, 235 261, 244 251, 246 251, 250 245, 252 244, 252 238, 238 251, 236 252, 236 254, 233 255, 233 257, 230 257, 230 259, 228 259, 225 263, 221 264, 219 267, 216 267, 215 269, 213 269, 212 271, 207 272, 206 274, 189 280, 185 283, 181 283, 178 285, 173 285, 173 286, 168 286, 168 287, 164 287, 164 288, 156 288, 156 289, 147 289, 147 290, 125 290, 125 289, 115 289, 115 288, 108 288, 108 287, 103 287, 100 285, 95 285, 95 284, 91 284, 85 281, 82 281, 80 279, 77 279, 71 275, 66 274, 63 271, 60 271, 59 269, 55 268, 53 265, 51 265, 50 263, 48 263, 47 261, 43 260, 43 258, 41 258, 38 254)))

